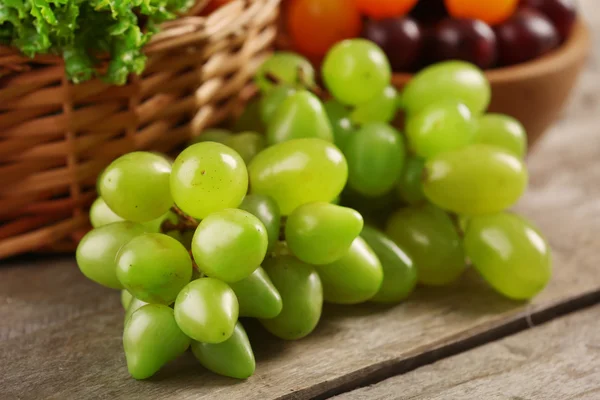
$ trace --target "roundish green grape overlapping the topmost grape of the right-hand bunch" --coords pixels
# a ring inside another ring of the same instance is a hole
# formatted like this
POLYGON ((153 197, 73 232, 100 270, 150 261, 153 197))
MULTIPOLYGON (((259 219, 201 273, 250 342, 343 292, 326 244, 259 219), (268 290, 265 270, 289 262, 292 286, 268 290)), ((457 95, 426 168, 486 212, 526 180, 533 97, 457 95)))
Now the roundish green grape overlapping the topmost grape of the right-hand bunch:
POLYGON ((424 158, 473 143, 475 130, 469 108, 451 101, 429 104, 409 116, 406 123, 410 147, 424 158))

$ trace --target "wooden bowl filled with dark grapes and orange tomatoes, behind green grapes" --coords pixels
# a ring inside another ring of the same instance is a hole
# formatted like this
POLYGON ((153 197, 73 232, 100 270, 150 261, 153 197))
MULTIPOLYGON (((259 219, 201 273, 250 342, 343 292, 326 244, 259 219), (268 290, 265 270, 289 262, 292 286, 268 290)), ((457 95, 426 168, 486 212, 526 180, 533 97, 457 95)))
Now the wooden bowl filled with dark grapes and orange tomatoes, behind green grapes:
POLYGON ((468 62, 484 70, 490 82, 489 111, 519 120, 530 144, 558 117, 590 47, 589 32, 573 0, 317 3, 321 2, 284 4, 281 47, 320 64, 336 43, 363 37, 385 52, 393 86, 412 87, 415 95, 421 85, 412 82, 415 72, 426 69, 429 84, 448 90, 436 81, 436 68, 431 66, 457 61, 460 71, 461 62, 468 62))

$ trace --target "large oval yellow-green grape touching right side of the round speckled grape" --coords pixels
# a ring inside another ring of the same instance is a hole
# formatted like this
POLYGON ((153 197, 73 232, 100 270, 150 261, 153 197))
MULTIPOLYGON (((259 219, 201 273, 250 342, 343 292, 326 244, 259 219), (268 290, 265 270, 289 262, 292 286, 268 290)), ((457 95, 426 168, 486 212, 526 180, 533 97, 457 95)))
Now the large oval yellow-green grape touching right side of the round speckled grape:
POLYGON ((296 139, 271 146, 248 167, 251 191, 271 196, 282 215, 313 201, 330 202, 348 177, 344 155, 321 139, 296 139))

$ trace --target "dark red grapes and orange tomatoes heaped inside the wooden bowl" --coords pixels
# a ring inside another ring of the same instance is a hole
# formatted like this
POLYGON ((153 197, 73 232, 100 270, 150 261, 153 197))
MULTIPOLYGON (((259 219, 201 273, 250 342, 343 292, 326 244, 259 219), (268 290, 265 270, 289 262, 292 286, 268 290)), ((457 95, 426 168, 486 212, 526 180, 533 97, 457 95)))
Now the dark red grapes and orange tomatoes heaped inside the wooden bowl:
POLYGON ((484 69, 532 60, 566 40, 575 18, 574 0, 290 0, 286 11, 293 47, 308 57, 360 35, 396 72, 446 60, 484 69))

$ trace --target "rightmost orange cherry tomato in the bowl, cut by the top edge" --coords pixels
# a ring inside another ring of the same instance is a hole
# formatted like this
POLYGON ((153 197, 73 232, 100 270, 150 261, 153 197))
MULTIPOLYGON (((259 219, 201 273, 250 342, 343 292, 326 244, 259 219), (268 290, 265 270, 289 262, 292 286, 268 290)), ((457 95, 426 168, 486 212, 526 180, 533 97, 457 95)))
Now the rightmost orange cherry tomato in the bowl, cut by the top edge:
POLYGON ((504 22, 515 10, 519 0, 445 0, 448 12, 455 18, 481 19, 495 25, 504 22))

